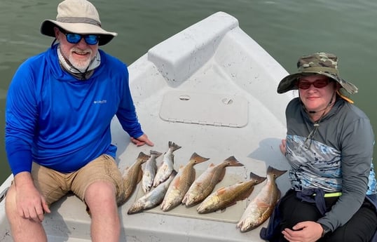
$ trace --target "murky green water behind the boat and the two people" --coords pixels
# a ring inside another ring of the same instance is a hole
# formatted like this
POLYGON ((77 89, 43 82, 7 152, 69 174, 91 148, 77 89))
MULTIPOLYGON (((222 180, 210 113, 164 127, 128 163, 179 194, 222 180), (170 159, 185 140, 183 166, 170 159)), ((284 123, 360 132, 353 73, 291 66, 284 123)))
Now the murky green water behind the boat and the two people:
MULTIPOLYGON (((0 1, 0 182, 11 173, 4 149, 6 91, 15 69, 53 40, 39 34, 41 22, 55 19, 59 1, 0 1)), ((240 27, 288 72, 299 56, 335 53, 343 79, 359 87, 352 96, 377 130, 375 112, 376 1, 367 0, 92 0, 102 27, 118 32, 104 46, 130 65, 149 48, 217 11, 238 18, 240 27)), ((276 88, 276 87, 271 87, 276 88)), ((377 149, 375 148, 375 159, 377 149)))

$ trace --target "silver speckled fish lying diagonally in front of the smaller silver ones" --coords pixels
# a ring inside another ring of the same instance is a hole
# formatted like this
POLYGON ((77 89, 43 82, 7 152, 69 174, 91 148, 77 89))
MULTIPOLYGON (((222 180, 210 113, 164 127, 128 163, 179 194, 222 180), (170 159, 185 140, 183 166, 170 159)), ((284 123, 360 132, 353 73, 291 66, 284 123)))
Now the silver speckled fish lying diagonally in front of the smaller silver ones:
POLYGON ((151 208, 155 208, 158 206, 164 199, 166 194, 167 188, 172 182, 173 178, 177 175, 177 171, 173 170, 170 174, 170 177, 165 180, 165 182, 159 184, 155 189, 149 191, 144 196, 140 197, 132 204, 132 206, 128 209, 128 214, 140 213, 144 210, 148 210, 151 208))

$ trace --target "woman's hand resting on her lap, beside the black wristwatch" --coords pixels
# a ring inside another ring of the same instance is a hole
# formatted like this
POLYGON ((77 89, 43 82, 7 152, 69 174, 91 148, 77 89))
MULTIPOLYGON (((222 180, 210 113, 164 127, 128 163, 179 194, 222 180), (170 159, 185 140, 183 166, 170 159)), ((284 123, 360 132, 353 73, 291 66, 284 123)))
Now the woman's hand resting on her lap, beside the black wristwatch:
POLYGON ((315 242, 322 236, 321 224, 313 221, 299 222, 292 229, 282 231, 289 242, 315 242))

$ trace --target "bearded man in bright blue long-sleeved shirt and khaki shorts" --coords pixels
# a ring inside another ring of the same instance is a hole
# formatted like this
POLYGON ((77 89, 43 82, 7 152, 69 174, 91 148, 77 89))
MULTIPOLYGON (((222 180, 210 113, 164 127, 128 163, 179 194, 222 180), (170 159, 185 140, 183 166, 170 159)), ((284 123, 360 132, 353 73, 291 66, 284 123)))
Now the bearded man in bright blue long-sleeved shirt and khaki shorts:
POLYGON ((128 69, 99 50, 114 32, 95 6, 65 0, 41 33, 55 40, 18 68, 6 102, 6 152, 14 181, 6 214, 14 241, 47 241, 41 221, 69 191, 92 218, 92 241, 119 241, 121 173, 110 124, 114 115, 137 146, 153 146, 137 119, 128 69), (106 215, 106 216, 103 216, 106 215))

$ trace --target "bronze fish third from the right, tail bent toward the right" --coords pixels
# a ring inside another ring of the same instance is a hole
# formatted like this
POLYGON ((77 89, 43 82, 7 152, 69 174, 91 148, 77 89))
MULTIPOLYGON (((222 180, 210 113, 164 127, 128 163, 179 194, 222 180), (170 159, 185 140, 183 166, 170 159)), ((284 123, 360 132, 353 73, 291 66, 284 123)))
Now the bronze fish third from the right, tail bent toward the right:
POLYGON ((219 163, 217 166, 211 163, 194 182, 186 192, 182 203, 187 207, 194 206, 197 203, 203 201, 207 196, 211 194, 214 187, 223 180, 226 167, 228 166, 244 166, 240 161, 235 159, 234 156, 230 156, 228 159, 219 163))

